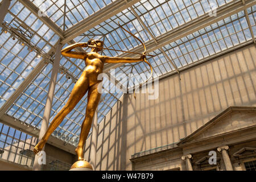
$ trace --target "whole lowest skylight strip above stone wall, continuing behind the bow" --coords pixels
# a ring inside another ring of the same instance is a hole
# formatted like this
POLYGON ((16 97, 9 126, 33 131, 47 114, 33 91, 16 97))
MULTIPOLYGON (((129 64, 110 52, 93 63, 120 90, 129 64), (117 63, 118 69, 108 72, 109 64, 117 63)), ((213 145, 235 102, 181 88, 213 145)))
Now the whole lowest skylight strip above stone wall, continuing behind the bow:
MULTIPOLYGON (((248 11, 250 12, 250 10, 248 11)), ((255 27, 255 18, 253 18, 255 16, 250 13, 249 17, 252 27, 255 27)), ((164 50, 176 66, 181 68, 248 40, 251 40, 250 30, 246 23, 245 15, 243 12, 239 12, 211 26, 205 27, 203 30, 194 32, 191 35, 164 46, 164 50)), ((154 69, 154 73, 159 76, 174 70, 172 65, 170 65, 170 61, 167 61, 168 64, 166 64, 166 59, 163 55, 160 56, 160 54, 156 57, 148 58, 154 69)), ((129 67, 129 64, 125 64, 124 67, 119 67, 116 70, 118 73, 126 73, 128 75, 130 69, 126 69, 127 72, 123 71, 126 67, 129 67)), ((147 65, 138 63, 135 64, 133 71, 141 74, 145 72, 145 69, 149 70, 147 65)), ((122 82, 122 84, 126 85, 125 82, 122 82)))

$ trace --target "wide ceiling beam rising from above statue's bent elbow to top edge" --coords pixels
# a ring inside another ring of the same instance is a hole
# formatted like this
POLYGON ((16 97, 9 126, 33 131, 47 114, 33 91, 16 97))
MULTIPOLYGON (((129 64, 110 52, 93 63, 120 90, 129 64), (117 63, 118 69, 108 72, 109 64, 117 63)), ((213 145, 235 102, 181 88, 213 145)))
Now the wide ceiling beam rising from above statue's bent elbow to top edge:
POLYGON ((81 22, 75 24, 71 28, 68 28, 68 30, 64 32, 65 39, 61 43, 65 44, 69 42, 69 40, 77 38, 77 36, 83 34, 84 32, 90 30, 91 28, 97 26, 98 24, 104 22, 105 20, 120 13, 121 11, 127 9, 128 7, 130 7, 131 5, 134 5, 139 1, 140 0, 114 1, 113 3, 111 3, 110 5, 107 5, 100 11, 97 11, 91 16, 88 16, 88 18, 81 20, 81 22))

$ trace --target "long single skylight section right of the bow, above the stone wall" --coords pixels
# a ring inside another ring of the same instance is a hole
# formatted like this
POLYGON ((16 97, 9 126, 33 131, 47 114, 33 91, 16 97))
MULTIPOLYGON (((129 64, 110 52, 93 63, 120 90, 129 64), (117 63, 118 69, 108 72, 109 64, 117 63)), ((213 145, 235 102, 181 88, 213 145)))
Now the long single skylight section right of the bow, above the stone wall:
POLYGON ((187 42, 167 50, 177 67, 187 65, 187 60, 195 62, 251 39, 244 16, 208 30, 205 30, 205 34, 199 33, 196 38, 189 38, 187 42))

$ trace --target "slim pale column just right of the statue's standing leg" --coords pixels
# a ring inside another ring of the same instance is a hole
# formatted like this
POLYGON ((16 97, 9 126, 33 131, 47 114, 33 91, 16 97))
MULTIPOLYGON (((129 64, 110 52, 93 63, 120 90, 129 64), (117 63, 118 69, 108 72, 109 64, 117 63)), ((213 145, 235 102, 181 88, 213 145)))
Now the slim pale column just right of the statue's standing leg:
POLYGON ((92 142, 90 143, 90 164, 93 170, 96 170, 96 153, 97 153, 97 140, 98 140, 98 112, 96 110, 92 125, 92 142))

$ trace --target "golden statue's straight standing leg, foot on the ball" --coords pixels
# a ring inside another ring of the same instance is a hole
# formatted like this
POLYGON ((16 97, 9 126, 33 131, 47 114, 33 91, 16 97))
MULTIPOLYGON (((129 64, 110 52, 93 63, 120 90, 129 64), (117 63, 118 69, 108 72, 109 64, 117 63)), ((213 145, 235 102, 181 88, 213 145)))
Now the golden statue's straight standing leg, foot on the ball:
POLYGON ((76 148, 78 160, 84 160, 84 144, 88 137, 90 128, 92 127, 93 115, 97 109, 98 102, 101 98, 101 93, 98 92, 99 83, 90 86, 88 93, 88 104, 86 107, 85 120, 82 122, 79 144, 76 148))

